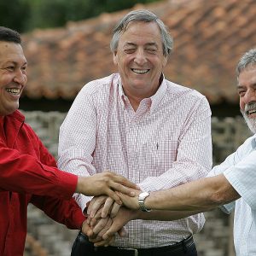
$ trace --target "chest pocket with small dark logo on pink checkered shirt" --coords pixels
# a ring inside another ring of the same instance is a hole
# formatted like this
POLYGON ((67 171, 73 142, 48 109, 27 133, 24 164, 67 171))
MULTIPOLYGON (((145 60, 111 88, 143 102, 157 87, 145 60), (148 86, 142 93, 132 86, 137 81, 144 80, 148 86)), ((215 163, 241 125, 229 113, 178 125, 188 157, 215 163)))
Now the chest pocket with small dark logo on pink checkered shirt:
POLYGON ((177 159, 177 141, 159 140, 143 145, 143 158, 141 164, 151 176, 159 176, 172 168, 177 159))

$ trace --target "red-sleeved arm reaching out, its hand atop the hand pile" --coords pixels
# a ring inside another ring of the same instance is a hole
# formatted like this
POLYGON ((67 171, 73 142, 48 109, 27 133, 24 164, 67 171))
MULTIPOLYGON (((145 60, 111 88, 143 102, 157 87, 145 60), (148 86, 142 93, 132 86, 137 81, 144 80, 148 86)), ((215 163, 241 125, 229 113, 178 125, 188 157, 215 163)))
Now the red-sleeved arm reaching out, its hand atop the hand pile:
MULTIPOLYGON (((109 195, 119 201, 119 197, 114 195, 112 189, 123 190, 125 193, 129 190, 126 188, 130 186, 129 184, 136 187, 125 177, 112 172, 103 172, 94 177, 77 177, 62 172, 55 167, 54 158, 37 139, 38 137, 35 137, 32 146, 38 150, 40 159, 36 155, 20 154, 18 150, 7 148, 0 140, 1 189, 32 195, 49 195, 61 199, 70 199, 77 190, 84 195, 109 195)), ((27 147, 32 146, 29 143, 27 145, 27 147)))

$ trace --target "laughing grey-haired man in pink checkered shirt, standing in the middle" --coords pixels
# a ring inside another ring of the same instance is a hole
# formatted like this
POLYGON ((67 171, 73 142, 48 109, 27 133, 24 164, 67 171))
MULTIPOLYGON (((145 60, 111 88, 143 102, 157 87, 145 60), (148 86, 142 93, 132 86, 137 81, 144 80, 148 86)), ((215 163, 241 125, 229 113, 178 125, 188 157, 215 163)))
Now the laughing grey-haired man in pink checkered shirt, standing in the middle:
MULTIPOLYGON (((165 79, 172 51, 166 26, 147 10, 132 11, 119 21, 110 45, 119 73, 79 92, 61 125, 58 166, 82 176, 111 170, 141 192, 205 177, 212 167, 211 110, 205 96, 165 79)), ((90 213, 90 226, 107 227, 116 212, 125 211, 107 196, 76 195, 76 200, 90 213), (97 219, 104 203, 112 211, 97 219)), ((204 222, 202 214, 173 222, 138 219, 125 225, 127 232, 113 247, 94 253, 194 256, 192 235, 204 222)))

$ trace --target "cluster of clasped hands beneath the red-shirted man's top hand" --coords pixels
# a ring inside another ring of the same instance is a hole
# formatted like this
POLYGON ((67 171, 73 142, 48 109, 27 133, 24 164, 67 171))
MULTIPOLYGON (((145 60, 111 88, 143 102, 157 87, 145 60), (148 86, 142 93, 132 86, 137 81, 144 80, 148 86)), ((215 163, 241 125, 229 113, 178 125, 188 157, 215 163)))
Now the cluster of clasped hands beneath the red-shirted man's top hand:
POLYGON ((135 218, 134 210, 138 209, 137 195, 141 191, 133 191, 136 195, 134 197, 115 192, 123 202, 122 205, 107 195, 95 196, 88 203, 88 218, 83 224, 82 231, 96 247, 110 245, 116 233, 125 236, 124 226, 135 218))

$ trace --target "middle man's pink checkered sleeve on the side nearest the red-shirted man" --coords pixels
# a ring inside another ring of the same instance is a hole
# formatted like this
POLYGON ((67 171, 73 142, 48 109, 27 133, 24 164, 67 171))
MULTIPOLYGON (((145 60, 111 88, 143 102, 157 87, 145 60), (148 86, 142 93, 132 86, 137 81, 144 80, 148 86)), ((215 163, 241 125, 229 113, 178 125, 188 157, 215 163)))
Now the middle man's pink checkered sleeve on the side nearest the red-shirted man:
MULTIPOLYGON (((85 177, 96 173, 92 165, 96 126, 96 109, 91 97, 81 90, 60 128, 57 165, 61 170, 85 177)), ((80 194, 75 194, 74 198, 82 210, 91 200, 90 196, 80 194)))

